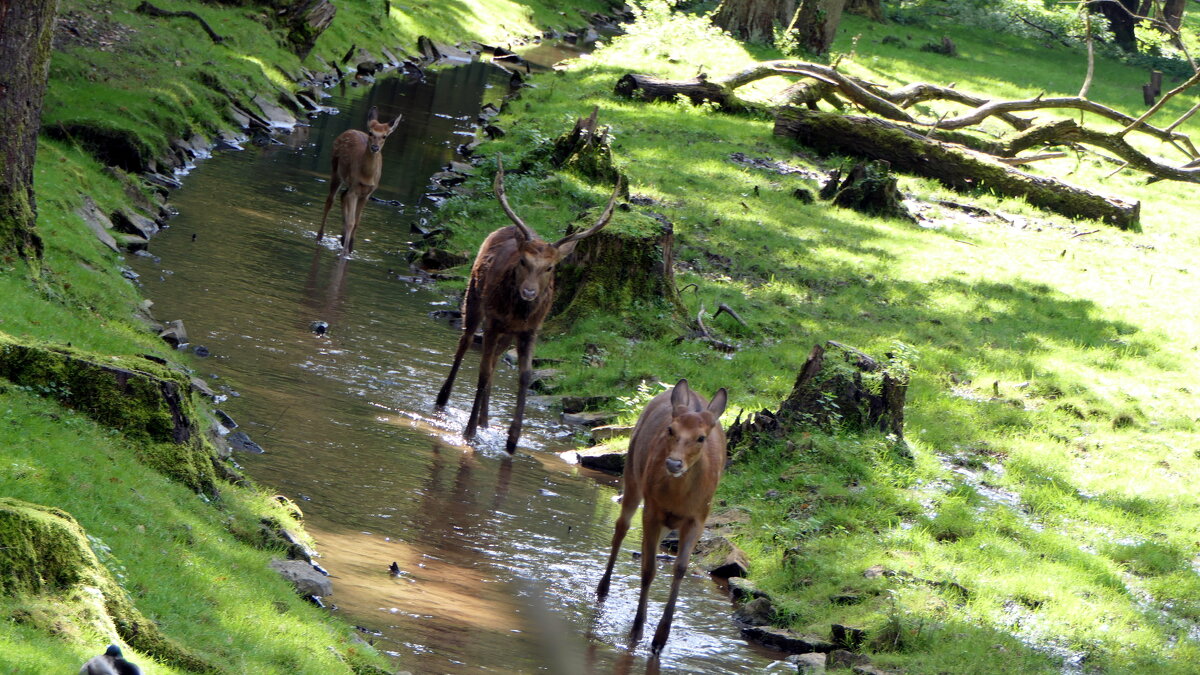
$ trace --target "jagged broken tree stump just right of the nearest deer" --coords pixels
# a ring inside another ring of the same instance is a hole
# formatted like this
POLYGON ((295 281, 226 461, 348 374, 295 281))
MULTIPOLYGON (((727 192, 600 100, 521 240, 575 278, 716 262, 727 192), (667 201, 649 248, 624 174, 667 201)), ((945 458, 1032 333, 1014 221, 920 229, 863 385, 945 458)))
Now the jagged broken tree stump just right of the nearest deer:
MULTIPOLYGON (((887 354, 893 360, 893 354, 887 354)), ((779 411, 763 410, 726 432, 733 448, 754 434, 784 436, 794 429, 878 430, 904 438, 908 374, 846 345, 815 345, 779 411), (835 350, 830 354, 826 350, 835 350), (838 357, 841 358, 838 358, 838 357)))

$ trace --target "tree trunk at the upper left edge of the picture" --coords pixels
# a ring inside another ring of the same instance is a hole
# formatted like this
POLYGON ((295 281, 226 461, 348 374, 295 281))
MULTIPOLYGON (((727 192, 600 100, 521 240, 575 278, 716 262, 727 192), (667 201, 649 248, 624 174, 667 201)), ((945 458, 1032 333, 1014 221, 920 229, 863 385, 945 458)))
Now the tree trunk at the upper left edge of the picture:
POLYGON ((37 258, 34 161, 58 0, 0 0, 0 252, 37 258))

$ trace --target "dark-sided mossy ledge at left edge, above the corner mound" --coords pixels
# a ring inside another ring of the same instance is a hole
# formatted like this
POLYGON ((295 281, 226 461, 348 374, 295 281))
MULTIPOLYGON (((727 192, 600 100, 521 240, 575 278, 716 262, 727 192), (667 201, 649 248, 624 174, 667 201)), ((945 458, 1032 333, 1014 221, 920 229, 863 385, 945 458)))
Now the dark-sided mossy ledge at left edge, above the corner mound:
POLYGON ((0 334, 0 377, 121 430, 140 441, 146 465, 216 494, 215 455, 198 432, 186 375, 142 357, 98 357, 0 334))

